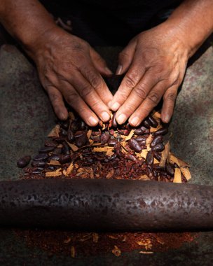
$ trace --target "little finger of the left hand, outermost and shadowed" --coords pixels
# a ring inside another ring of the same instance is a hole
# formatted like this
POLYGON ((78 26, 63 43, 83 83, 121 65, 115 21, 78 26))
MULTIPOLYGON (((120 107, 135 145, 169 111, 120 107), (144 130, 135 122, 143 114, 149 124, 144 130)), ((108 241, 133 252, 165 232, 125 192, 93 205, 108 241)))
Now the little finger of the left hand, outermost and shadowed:
POLYGON ((64 106, 63 97, 60 91, 53 86, 46 87, 46 91, 48 92, 50 102, 53 105, 56 116, 60 120, 66 120, 68 117, 68 112, 66 107, 64 106))

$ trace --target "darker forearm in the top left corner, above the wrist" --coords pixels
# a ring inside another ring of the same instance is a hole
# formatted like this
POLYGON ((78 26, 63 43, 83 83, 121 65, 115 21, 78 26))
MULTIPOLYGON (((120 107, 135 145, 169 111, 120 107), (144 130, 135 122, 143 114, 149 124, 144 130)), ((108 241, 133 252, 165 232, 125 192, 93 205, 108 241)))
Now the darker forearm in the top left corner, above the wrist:
POLYGON ((57 27, 37 0, 1 0, 0 22, 29 54, 36 50, 41 36, 57 27))

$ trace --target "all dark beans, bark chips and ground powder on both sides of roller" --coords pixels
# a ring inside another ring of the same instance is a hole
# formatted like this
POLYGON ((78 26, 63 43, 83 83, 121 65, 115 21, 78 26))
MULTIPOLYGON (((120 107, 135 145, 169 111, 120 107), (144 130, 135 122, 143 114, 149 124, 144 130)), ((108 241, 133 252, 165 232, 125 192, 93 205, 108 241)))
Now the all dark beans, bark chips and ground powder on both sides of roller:
MULTIPOLYGON (((191 179, 189 165, 170 152, 163 135, 160 113, 153 112, 142 125, 116 125, 114 116, 108 124, 89 128, 69 113, 69 119, 56 125, 48 135, 32 167, 25 168, 24 179, 139 179, 186 183, 191 179)), ((18 165, 27 165, 29 156, 18 165)), ((69 232, 57 230, 15 230, 19 239, 49 255, 101 255, 137 250, 152 254, 179 248, 193 241, 191 232, 69 232)))

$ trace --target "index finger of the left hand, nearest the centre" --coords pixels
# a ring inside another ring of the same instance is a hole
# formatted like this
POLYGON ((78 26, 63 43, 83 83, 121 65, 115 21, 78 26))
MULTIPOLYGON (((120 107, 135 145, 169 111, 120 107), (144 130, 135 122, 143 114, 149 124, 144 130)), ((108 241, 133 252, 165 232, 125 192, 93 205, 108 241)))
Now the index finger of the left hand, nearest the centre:
MULTIPOLYGON (((93 91, 96 92, 99 98, 102 99, 102 102, 108 105, 109 102, 111 102, 111 100, 113 99, 113 95, 111 94, 109 88, 107 87, 107 84, 104 82, 102 76, 100 76, 99 73, 97 73, 97 70, 95 69, 95 67, 92 66, 92 64, 90 65, 87 64, 86 66, 81 67, 80 71, 83 74, 84 78, 81 77, 79 82, 81 82, 81 80, 84 80, 84 81, 88 80, 87 83, 88 82, 90 83, 91 92, 93 91)), ((88 85, 85 85, 85 86, 87 87, 88 85)), ((95 93, 93 94, 93 97, 95 97, 95 93)), ((107 110, 109 112, 108 107, 107 107, 107 110)))

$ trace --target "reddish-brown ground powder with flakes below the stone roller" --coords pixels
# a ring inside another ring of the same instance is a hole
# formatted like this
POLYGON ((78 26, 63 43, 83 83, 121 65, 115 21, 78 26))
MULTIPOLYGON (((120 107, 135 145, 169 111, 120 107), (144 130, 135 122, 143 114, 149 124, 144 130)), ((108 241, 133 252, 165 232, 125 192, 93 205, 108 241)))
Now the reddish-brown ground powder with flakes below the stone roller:
POLYGON ((29 247, 38 247, 48 255, 104 255, 137 250, 140 253, 165 252, 191 242, 197 236, 191 232, 136 232, 95 233, 55 230, 15 230, 15 235, 24 238, 29 247), (116 246, 116 248, 115 248, 116 246), (142 252, 141 252, 142 251, 142 252))

